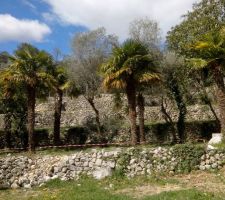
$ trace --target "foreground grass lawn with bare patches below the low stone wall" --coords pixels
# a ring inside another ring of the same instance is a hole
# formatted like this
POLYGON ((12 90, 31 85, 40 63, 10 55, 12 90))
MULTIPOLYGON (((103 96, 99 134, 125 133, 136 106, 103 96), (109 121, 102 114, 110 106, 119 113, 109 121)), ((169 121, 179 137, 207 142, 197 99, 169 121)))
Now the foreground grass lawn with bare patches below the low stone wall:
POLYGON ((101 181, 53 180, 30 190, 1 190, 1 200, 222 200, 220 192, 185 186, 178 178, 111 177, 101 181))

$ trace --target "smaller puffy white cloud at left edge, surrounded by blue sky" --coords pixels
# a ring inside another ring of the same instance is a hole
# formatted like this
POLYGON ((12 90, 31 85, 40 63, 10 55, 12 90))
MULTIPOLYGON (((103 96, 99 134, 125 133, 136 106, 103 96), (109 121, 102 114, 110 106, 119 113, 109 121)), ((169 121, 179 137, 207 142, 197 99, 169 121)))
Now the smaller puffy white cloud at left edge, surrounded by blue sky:
POLYGON ((51 29, 38 20, 17 19, 10 14, 0 14, 0 42, 41 42, 51 29))

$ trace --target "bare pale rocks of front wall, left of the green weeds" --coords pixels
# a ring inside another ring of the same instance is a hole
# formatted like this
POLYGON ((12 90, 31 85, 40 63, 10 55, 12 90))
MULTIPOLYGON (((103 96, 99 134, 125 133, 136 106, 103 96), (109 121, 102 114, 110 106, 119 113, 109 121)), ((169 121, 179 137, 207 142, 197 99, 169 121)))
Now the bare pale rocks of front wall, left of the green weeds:
POLYGON ((11 188, 31 188, 51 179, 69 180, 79 178, 81 174, 92 175, 103 168, 115 168, 118 152, 93 150, 69 156, 33 158, 7 156, 0 159, 0 184, 11 188))

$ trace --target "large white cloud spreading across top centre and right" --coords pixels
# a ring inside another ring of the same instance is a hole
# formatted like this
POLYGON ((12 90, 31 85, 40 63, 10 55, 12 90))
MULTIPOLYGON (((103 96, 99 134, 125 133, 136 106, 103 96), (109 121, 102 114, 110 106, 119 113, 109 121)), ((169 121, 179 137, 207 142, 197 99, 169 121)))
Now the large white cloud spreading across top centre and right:
POLYGON ((122 39, 136 18, 157 20, 163 35, 180 21, 196 0, 44 0, 62 22, 90 29, 104 26, 122 39))

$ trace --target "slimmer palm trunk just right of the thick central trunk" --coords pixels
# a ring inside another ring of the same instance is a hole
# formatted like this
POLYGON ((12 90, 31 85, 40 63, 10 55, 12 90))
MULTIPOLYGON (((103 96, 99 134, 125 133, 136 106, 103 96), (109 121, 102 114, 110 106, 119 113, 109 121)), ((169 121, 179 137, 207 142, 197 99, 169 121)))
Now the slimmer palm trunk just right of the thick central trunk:
POLYGON ((145 112, 145 106, 144 106, 144 97, 141 93, 138 93, 137 96, 137 106, 138 106, 138 120, 139 120, 139 132, 140 132, 140 143, 145 144, 146 138, 145 138, 145 125, 144 125, 144 112, 145 112))

